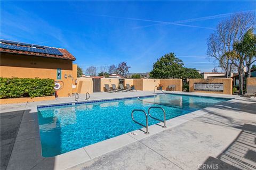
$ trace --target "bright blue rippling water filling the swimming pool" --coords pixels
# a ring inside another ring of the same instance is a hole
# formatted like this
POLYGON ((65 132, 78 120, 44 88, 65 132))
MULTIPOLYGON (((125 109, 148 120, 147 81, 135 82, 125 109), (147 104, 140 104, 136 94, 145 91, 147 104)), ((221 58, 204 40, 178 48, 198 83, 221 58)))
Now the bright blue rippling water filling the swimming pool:
MULTIPOLYGON (((42 155, 52 157, 82 148, 142 127, 131 118, 133 109, 148 111, 151 106, 165 109, 166 120, 198 109, 227 101, 221 98, 185 95, 122 99, 75 106, 38 108, 42 155)), ((151 111, 150 111, 151 113, 151 111)), ((152 115, 163 119, 163 113, 152 109, 152 115)), ((145 115, 135 112, 134 118, 145 124, 145 115)), ((148 118, 149 125, 158 121, 148 118)), ((150 132, 150 128, 149 128, 150 132)))

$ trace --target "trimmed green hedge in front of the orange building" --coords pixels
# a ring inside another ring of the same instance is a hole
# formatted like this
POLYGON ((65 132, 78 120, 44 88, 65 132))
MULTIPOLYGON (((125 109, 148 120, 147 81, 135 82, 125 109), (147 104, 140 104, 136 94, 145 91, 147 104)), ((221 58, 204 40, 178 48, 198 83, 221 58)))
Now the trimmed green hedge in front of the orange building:
POLYGON ((53 79, 2 78, 0 98, 42 97, 54 93, 53 79))

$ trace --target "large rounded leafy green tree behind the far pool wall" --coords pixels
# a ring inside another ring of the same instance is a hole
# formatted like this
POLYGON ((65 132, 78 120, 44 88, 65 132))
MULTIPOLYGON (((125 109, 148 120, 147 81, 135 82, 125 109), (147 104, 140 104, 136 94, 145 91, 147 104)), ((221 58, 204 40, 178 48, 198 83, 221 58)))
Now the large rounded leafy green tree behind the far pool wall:
POLYGON ((182 78, 182 60, 175 57, 174 53, 165 54, 153 64, 153 70, 149 73, 155 79, 182 78))

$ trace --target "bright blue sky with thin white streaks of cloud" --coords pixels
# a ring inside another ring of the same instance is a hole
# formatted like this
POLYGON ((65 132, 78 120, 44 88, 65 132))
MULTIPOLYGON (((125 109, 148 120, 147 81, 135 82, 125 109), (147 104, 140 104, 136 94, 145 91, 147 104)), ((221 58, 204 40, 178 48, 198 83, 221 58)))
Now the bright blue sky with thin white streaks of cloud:
POLYGON ((210 72, 206 39, 231 13, 256 1, 1 1, 1 39, 66 48, 83 67, 127 62, 149 72, 174 52, 185 66, 210 72))

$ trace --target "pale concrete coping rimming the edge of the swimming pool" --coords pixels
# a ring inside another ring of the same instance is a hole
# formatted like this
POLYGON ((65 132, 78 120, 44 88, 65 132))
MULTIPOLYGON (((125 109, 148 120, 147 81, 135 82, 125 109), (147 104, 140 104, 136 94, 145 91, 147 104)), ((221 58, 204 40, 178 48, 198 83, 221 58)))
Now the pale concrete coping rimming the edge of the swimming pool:
MULTIPOLYGON (((125 98, 113 98, 113 99, 103 99, 103 100, 91 100, 91 101, 79 101, 76 102, 76 104, 85 104, 85 103, 96 103, 96 102, 101 102, 101 101, 113 101, 113 100, 122 100, 122 99, 131 99, 131 98, 142 98, 142 97, 153 97, 156 95, 161 95, 163 93, 154 93, 154 95, 146 95, 146 96, 135 96, 135 97, 125 97, 125 98)), ((175 92, 166 92, 166 94, 173 94, 173 95, 183 95, 180 93, 175 93, 175 92)), ((185 95, 185 94, 184 94, 185 95)), ((186 94, 187 96, 202 96, 201 95, 195 95, 195 94, 186 94)), ((205 97, 205 96, 202 96, 205 97)), ((211 97, 211 96, 206 96, 206 97, 211 97)), ((221 104, 226 103, 226 105, 228 105, 228 103, 234 99, 234 97, 213 97, 213 98, 226 98, 226 99, 230 99, 228 101, 223 101, 221 104)), ((65 103, 65 104, 70 104, 70 103, 65 103)), ((71 103, 72 104, 72 103, 71 103)), ((60 104, 54 104, 54 105, 47 105, 49 107, 54 107, 55 105, 60 105, 60 104)), ((170 120, 166 121, 166 127, 167 128, 162 128, 162 126, 160 126, 158 124, 154 124, 154 125, 150 125, 149 126, 149 134, 145 134, 143 131, 146 131, 145 128, 141 128, 139 130, 134 130, 122 135, 118 135, 117 137, 113 137, 110 139, 106 139, 97 143, 93 143, 92 145, 89 146, 85 146, 82 148, 78 148, 69 152, 66 152, 64 154, 60 154, 54 157, 43 157, 42 156, 42 146, 41 146, 41 139, 40 139, 40 135, 39 135, 39 147, 40 147, 40 152, 41 152, 41 156, 44 159, 44 161, 38 163, 35 168, 37 166, 40 166, 40 164, 45 164, 45 162, 47 162, 47 160, 49 159, 54 159, 54 169, 67 169, 70 167, 74 167, 78 164, 87 162, 93 158, 99 157, 101 155, 107 154, 108 152, 114 151, 118 148, 122 148, 126 145, 129 145, 130 143, 139 141, 141 139, 150 137, 151 135, 154 135, 156 133, 162 132, 164 130, 167 129, 171 129, 175 126, 178 126, 182 123, 188 122, 189 120, 196 118, 198 116, 202 116, 204 114, 206 114, 206 111, 215 111, 218 108, 214 108, 214 106, 216 106, 218 104, 215 104, 213 106, 210 107, 206 107, 194 112, 190 112, 181 116, 177 116, 177 117, 173 117, 170 120), (136 134, 136 135, 134 135, 136 134)), ((45 106, 45 105, 43 105, 45 106)), ((63 106, 67 106, 67 105, 63 105, 63 106)), ((38 108, 38 106, 37 106, 38 108)), ((39 107, 41 108, 41 107, 39 107)), ((43 108, 43 107, 42 107, 43 108)), ((36 114, 37 117, 37 114, 36 114)), ((38 124, 38 123, 37 123, 38 124)), ((38 124, 39 126, 39 124, 38 124)), ((39 132, 38 132, 39 133, 39 132)))

